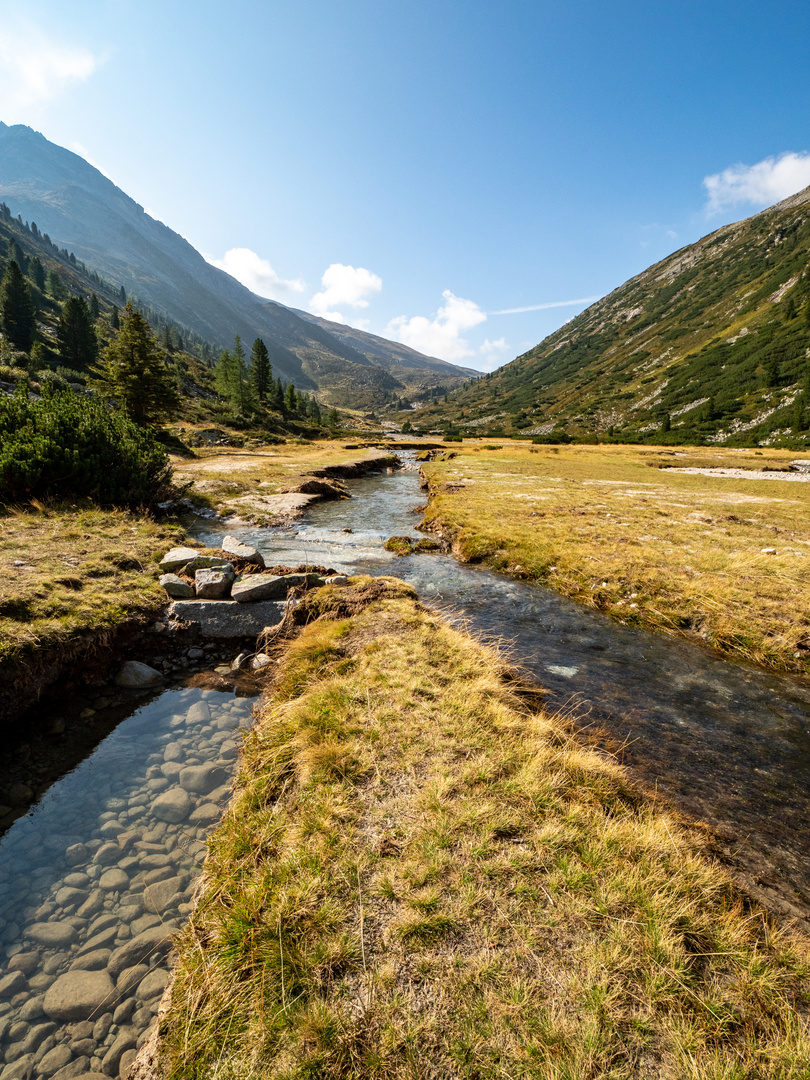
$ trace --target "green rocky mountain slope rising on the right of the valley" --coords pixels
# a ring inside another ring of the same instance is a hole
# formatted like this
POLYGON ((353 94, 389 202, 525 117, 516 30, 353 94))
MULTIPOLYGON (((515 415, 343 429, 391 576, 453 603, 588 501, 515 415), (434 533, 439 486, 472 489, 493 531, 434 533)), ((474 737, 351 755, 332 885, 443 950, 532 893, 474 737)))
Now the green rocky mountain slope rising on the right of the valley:
POLYGON ((421 417, 659 442, 804 440, 810 188, 675 252, 421 417))

